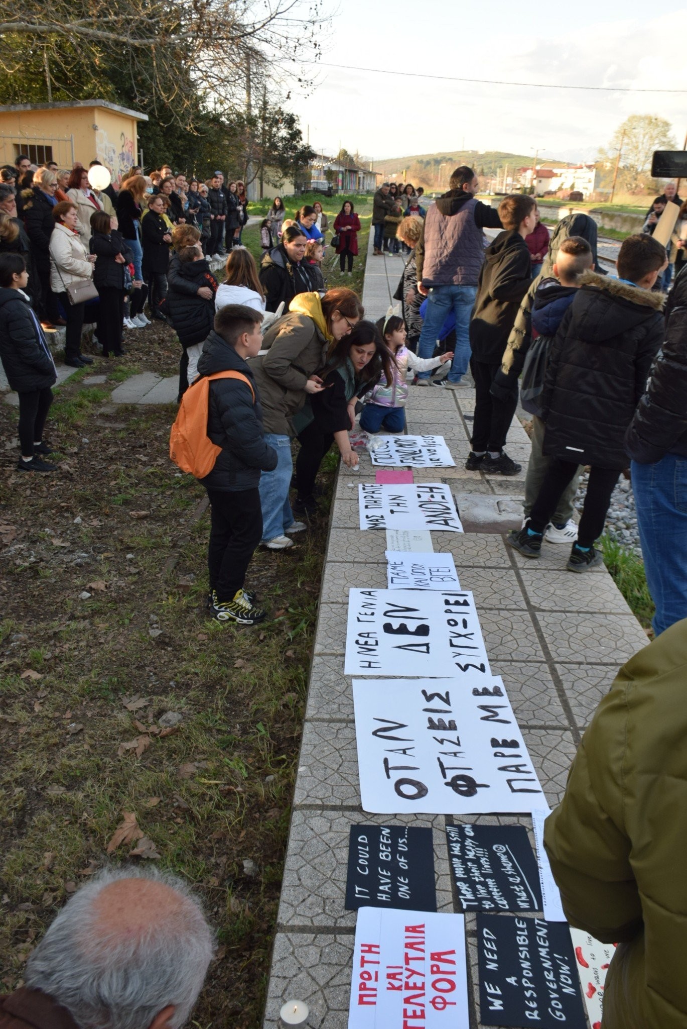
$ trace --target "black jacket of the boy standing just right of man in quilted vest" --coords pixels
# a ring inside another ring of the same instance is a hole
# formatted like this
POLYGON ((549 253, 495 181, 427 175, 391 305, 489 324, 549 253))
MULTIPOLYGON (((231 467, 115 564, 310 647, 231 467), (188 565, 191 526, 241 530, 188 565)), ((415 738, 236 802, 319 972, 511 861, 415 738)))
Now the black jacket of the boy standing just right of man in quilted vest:
POLYGON ((499 233, 484 257, 470 319, 470 346, 476 361, 499 364, 532 283, 530 251, 520 234, 509 228, 499 233))

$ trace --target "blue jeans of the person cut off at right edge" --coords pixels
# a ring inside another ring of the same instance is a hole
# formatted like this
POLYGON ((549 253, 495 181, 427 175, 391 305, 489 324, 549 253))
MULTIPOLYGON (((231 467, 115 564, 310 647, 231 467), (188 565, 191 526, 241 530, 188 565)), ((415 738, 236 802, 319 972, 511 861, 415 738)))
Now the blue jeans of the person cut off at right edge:
POLYGON ((687 617, 687 458, 666 454, 655 464, 632 461, 644 570, 656 605, 658 636, 687 617))

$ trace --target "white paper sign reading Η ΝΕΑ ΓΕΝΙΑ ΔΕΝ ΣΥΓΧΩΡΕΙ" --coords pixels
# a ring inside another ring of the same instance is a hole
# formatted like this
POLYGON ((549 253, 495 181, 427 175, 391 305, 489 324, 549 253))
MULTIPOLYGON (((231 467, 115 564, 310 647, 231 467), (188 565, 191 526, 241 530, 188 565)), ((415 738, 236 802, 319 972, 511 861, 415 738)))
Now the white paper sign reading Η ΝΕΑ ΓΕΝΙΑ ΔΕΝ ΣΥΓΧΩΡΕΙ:
POLYGON ((476 686, 489 681, 472 594, 350 590, 345 674, 445 676, 476 686))

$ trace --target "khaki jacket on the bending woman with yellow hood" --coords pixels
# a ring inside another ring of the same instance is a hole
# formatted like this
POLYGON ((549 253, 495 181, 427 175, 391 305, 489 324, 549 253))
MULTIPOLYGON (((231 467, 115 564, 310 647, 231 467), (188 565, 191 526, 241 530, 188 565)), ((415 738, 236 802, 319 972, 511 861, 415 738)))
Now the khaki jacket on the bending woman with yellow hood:
MULTIPOLYGON (((294 299, 313 296, 319 301, 317 293, 294 299)), ((305 402, 305 383, 325 362, 328 341, 314 318, 290 311, 269 326, 262 346, 267 353, 249 364, 260 393, 264 431, 295 435, 291 418, 305 402)))

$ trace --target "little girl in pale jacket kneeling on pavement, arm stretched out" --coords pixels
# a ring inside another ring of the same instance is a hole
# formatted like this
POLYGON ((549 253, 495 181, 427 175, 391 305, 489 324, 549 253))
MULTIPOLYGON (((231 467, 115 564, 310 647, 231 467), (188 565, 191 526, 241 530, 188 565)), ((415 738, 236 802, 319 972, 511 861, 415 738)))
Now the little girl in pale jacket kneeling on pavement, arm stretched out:
POLYGON ((441 357, 418 357, 405 346, 405 323, 398 315, 379 318, 376 323, 387 347, 394 355, 396 364, 392 366, 391 382, 383 376, 378 385, 363 397, 364 407, 360 415, 360 428, 366 432, 403 432, 405 429, 405 403, 408 399, 406 375, 408 367, 413 371, 431 371, 444 361, 450 361, 454 352, 441 357))

